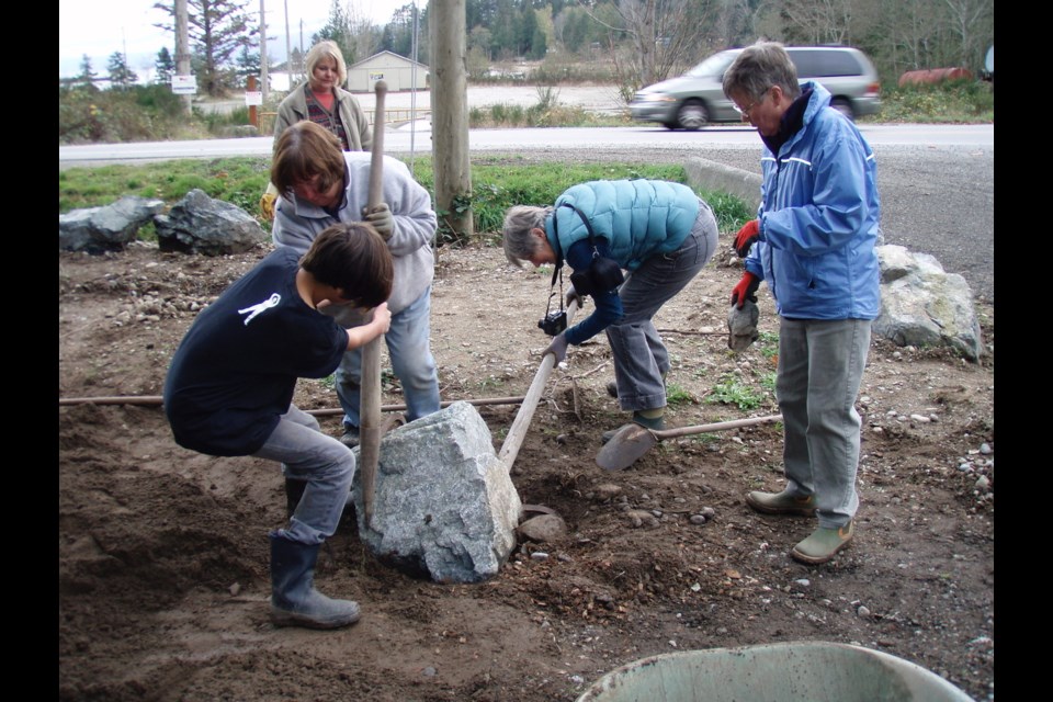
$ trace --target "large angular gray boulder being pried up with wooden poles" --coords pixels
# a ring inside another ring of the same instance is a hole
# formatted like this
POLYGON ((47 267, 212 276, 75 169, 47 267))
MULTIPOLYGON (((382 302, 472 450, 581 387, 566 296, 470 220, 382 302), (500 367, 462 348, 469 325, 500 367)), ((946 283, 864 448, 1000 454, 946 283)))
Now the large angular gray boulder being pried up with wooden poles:
POLYGON ((369 526, 361 471, 352 498, 370 552, 414 577, 480 582, 496 575, 516 547, 522 502, 486 422, 468 403, 453 403, 384 435, 369 526))

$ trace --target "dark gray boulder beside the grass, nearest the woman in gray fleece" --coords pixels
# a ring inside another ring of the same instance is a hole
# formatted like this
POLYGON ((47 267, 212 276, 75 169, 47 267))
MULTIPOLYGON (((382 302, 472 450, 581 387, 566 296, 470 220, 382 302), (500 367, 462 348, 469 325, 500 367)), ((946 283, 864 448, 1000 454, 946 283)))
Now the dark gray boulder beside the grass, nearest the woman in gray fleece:
POLYGON ((168 215, 154 217, 154 225, 161 251, 222 256, 248 251, 270 239, 246 211, 197 189, 172 205, 168 215))

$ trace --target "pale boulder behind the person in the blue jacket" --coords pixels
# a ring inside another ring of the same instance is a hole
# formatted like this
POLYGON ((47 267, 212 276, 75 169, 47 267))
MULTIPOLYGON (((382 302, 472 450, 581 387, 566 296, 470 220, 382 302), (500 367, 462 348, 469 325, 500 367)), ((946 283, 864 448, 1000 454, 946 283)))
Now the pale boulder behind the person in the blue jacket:
POLYGON ((881 316, 875 335, 906 347, 951 347, 970 361, 984 352, 973 293, 965 279, 946 273, 927 253, 880 246, 881 316))

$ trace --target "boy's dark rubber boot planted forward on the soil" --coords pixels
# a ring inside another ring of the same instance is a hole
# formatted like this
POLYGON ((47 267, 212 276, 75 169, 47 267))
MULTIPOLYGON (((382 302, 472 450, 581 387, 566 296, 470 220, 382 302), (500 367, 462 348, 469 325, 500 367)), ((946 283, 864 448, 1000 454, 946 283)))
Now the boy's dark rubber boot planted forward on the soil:
POLYGON ((359 621, 358 602, 315 589, 321 544, 301 544, 271 532, 271 621, 276 626, 337 629, 359 621))

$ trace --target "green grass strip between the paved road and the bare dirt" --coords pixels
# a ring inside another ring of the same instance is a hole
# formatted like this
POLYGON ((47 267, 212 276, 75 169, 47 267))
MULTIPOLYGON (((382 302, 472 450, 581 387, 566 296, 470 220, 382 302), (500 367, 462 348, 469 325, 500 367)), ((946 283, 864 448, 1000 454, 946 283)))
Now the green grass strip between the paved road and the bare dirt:
MULTIPOLYGON (((196 188, 210 197, 241 207, 257 217, 264 229, 270 229, 270 222, 259 208, 269 176, 270 159, 265 157, 71 168, 58 172, 58 212, 109 205, 124 195, 162 200, 171 206, 196 188)), ((414 176, 429 192, 434 191, 430 157, 414 160, 414 176)), ((668 163, 546 163, 539 168, 524 156, 479 157, 472 163, 474 189, 460 206, 472 207, 476 237, 489 241, 501 230, 505 212, 512 205, 552 204, 570 185, 590 180, 636 178, 682 183, 687 173, 682 166, 668 163)), ((722 230, 737 228, 750 216, 746 204, 737 197, 716 192, 699 194, 713 206, 722 230)), ((446 214, 439 212, 440 222, 446 214)), ((448 229, 440 227, 439 242, 456 241, 448 229)))

